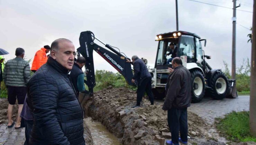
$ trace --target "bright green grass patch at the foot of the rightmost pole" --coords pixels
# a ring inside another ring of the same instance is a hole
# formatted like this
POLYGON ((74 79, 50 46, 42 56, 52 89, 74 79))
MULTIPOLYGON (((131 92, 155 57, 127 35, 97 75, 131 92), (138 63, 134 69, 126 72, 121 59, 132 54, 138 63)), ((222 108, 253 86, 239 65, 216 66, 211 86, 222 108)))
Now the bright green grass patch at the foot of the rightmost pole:
POLYGON ((234 142, 256 142, 249 132, 249 112, 231 112, 223 119, 216 119, 216 127, 227 139, 234 142))

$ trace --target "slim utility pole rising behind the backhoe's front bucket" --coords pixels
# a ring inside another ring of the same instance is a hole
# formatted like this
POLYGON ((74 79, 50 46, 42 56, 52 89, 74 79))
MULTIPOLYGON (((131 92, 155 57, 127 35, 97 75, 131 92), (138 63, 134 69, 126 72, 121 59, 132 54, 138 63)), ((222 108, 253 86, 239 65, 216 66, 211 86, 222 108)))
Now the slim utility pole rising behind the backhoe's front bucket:
POLYGON ((233 0, 233 31, 232 31, 232 79, 236 79, 236 1, 233 0))

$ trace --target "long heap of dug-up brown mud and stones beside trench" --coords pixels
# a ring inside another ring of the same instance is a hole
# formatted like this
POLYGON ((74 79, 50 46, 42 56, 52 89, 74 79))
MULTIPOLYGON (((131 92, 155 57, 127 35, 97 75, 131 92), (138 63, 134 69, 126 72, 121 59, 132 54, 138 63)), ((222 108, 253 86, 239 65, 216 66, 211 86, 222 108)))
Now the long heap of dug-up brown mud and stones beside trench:
MULTIPOLYGON (((86 116, 101 122, 125 145, 164 144, 166 138, 171 138, 162 103, 150 105, 144 97, 141 107, 131 108, 135 104, 135 91, 109 87, 95 93, 83 107, 86 116)), ((198 115, 188 112, 188 120, 190 142, 225 144, 209 137, 211 127, 198 115)))

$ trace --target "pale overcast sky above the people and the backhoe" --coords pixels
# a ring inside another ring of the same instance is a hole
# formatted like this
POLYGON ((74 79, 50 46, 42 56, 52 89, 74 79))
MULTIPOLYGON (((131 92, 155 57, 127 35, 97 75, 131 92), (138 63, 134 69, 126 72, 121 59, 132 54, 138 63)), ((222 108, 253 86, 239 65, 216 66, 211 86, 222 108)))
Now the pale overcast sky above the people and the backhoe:
MULTIPOLYGON (((198 0, 232 8, 232 0, 198 0)), ((231 68, 232 9, 189 0, 179 0, 179 29, 207 39, 203 49, 212 68, 231 68)), ((237 0, 238 10, 253 11, 252 0, 237 0)), ((250 59, 247 43, 253 13, 237 11, 236 60, 250 59), (248 28, 244 28, 242 26, 248 28)), ((79 47, 80 32, 90 30, 95 37, 118 47, 128 57, 138 55, 154 66, 159 33, 176 30, 175 0, 0 0, 0 48, 15 57, 15 49, 25 49, 26 58, 34 58, 44 45, 58 38, 73 41, 79 47)), ((96 42, 100 44, 99 42, 96 42)), ((94 52, 95 70, 116 70, 94 52)))

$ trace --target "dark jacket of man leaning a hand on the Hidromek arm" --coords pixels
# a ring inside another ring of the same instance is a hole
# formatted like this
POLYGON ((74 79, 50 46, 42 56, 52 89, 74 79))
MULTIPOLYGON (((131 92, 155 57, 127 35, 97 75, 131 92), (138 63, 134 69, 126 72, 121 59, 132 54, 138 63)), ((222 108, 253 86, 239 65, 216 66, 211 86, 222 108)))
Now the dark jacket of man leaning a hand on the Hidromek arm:
POLYGON ((134 62, 131 63, 134 69, 133 79, 136 79, 139 83, 147 77, 151 77, 145 62, 137 58, 134 62))

